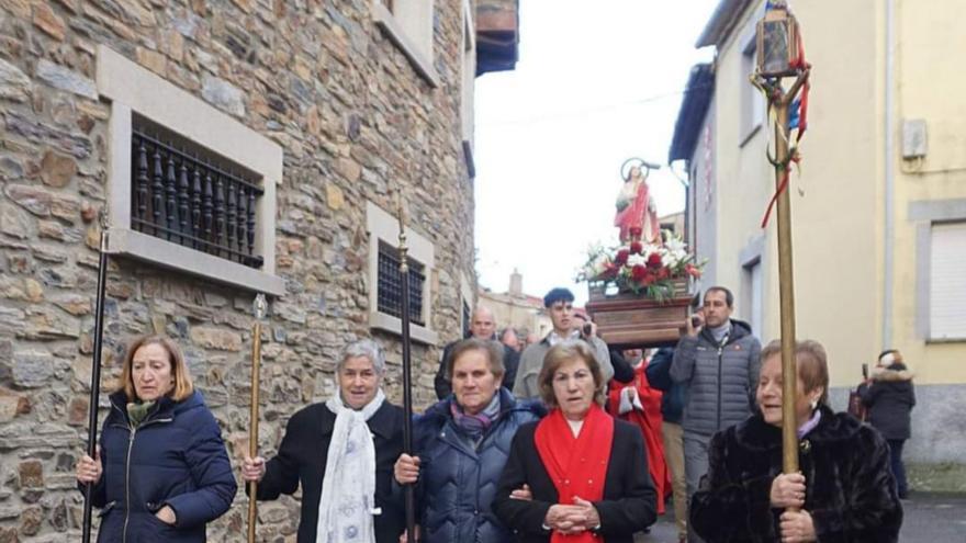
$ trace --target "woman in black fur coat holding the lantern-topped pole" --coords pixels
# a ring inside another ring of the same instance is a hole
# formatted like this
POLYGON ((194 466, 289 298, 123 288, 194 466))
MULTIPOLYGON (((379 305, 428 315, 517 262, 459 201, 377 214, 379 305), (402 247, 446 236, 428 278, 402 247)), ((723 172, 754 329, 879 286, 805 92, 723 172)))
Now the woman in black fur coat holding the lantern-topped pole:
POLYGON ((825 406, 829 369, 821 344, 797 343, 795 359, 800 472, 782 473, 782 346, 773 341, 762 350, 759 409, 711 440, 690 525, 708 543, 898 541, 902 507, 886 442, 825 406))

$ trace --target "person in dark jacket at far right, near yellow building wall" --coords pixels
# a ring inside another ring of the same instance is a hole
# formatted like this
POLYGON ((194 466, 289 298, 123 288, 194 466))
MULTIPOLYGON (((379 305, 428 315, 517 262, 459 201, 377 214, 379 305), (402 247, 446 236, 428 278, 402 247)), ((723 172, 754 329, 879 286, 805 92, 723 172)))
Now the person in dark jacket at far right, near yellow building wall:
POLYGON ((862 403, 868 407, 868 423, 889 443, 889 461, 898 485, 899 497, 909 497, 902 446, 911 435, 910 412, 916 405, 912 372, 902 362, 902 354, 890 349, 879 354, 872 377, 858 387, 862 403))

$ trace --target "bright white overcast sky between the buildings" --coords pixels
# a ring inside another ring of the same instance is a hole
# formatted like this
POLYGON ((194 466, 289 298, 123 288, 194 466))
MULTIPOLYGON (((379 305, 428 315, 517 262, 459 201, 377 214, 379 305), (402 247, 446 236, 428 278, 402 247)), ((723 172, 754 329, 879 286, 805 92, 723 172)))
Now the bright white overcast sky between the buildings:
MULTIPOLYGON (((516 70, 476 79, 476 271, 481 286, 542 296, 568 286, 593 242, 616 244, 620 166, 664 163, 694 43, 718 0, 520 0, 516 70)), ((679 169, 679 168, 678 168, 679 169)), ((659 215, 684 208, 667 170, 659 215)))

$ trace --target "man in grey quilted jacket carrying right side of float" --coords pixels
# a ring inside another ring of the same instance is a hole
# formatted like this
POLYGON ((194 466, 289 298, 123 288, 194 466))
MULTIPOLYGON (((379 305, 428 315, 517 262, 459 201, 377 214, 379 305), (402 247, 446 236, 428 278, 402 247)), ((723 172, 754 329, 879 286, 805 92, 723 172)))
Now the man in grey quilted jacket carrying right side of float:
MULTIPOLYGON (((746 419, 754 406, 762 344, 748 324, 731 318, 733 310, 731 291, 708 289, 674 350, 671 378, 688 388, 682 425, 688 501, 708 471, 711 435, 746 419)), ((700 541, 693 531, 689 538, 700 541)))

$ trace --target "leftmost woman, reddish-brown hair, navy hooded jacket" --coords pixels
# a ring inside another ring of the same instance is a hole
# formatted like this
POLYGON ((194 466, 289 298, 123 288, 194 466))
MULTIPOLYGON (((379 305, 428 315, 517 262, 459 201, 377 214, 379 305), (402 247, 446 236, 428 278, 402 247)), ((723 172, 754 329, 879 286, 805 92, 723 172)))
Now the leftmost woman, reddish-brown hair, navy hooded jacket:
POLYGON ((98 454, 77 463, 78 484, 93 485, 101 509, 98 541, 205 541, 205 524, 228 510, 237 485, 181 350, 162 336, 135 340, 110 399, 98 454))

